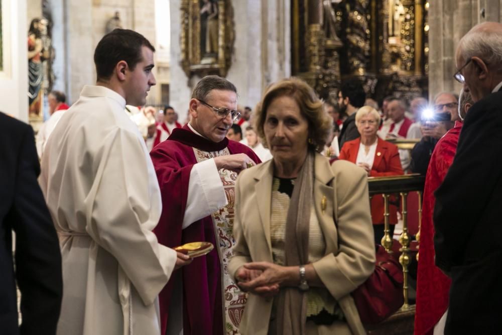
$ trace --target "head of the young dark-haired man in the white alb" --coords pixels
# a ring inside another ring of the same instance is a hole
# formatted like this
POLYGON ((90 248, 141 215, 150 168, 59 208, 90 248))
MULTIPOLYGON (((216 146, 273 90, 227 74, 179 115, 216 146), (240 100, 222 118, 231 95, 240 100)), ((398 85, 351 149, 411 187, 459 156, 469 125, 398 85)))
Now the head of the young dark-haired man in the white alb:
POLYGON ((127 104, 143 106, 156 84, 153 45, 141 34, 115 29, 104 35, 94 51, 97 85, 108 87, 127 104))

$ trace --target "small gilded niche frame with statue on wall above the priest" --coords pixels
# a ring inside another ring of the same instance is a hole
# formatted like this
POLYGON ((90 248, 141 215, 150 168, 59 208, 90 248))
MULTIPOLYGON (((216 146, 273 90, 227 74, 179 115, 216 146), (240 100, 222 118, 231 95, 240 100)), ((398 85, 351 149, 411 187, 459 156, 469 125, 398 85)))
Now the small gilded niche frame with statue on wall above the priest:
POLYGON ((230 0, 182 0, 181 66, 192 75, 226 76, 235 39, 230 0))

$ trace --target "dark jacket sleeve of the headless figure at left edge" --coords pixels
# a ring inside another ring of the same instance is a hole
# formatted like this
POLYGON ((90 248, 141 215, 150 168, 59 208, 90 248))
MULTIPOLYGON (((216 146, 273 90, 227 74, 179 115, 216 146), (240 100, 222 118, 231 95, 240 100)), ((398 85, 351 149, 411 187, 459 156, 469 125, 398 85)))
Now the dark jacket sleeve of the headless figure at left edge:
POLYGON ((55 334, 63 295, 61 253, 37 182, 40 165, 33 130, 24 130, 11 209, 23 315, 20 330, 21 334, 55 334))

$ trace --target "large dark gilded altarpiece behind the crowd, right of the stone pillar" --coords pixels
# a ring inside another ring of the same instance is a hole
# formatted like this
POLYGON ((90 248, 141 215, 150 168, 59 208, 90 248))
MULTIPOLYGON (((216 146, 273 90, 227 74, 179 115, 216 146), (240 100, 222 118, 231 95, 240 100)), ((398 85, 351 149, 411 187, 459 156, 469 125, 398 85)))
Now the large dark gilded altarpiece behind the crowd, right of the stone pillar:
POLYGON ((320 96, 361 78, 369 95, 428 95, 426 0, 293 0, 292 74, 320 96))

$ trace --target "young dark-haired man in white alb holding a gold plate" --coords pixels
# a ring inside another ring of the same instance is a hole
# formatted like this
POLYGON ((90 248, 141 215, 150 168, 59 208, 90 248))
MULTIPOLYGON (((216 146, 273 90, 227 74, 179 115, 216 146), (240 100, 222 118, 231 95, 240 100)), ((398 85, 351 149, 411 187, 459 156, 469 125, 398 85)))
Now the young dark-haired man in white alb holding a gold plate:
POLYGON ((94 53, 97 83, 61 118, 46 145, 40 184, 59 234, 59 335, 160 334, 157 295, 190 259, 160 245, 157 177, 127 104, 155 85, 155 49, 116 29, 94 53))

